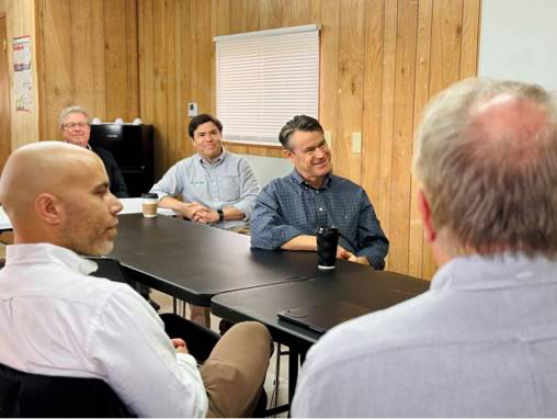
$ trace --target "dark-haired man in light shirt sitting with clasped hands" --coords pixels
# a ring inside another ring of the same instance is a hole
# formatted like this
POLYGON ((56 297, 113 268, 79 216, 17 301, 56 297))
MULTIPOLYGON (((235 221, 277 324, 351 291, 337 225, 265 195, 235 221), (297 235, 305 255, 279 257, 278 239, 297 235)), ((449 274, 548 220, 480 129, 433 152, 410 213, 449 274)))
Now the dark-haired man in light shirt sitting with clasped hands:
POLYGON ((208 114, 187 127, 197 154, 175 163, 152 186, 159 205, 195 223, 245 231, 261 188, 250 162, 221 145, 223 124, 208 114), (174 199, 182 195, 183 202, 174 199))

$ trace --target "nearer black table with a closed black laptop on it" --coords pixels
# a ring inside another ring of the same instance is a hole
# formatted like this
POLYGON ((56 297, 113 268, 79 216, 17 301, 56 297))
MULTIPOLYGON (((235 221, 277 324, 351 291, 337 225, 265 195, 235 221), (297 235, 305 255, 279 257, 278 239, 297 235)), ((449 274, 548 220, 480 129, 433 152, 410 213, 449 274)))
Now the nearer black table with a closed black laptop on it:
POLYGON ((292 400, 299 355, 322 333, 280 319, 278 312, 344 301, 372 313, 412 298, 429 290, 429 281, 338 261, 334 271, 310 280, 219 294, 212 299, 211 307, 215 316, 230 321, 262 322, 271 331, 274 341, 289 348, 288 395, 292 400))

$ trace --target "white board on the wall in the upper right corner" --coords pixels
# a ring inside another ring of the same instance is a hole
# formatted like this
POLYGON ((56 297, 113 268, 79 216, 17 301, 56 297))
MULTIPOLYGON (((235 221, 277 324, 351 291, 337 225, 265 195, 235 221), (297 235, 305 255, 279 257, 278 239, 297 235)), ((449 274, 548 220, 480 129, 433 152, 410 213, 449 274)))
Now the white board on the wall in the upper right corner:
POLYGON ((484 0, 478 75, 557 90, 557 1, 484 0))

